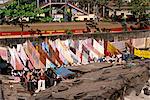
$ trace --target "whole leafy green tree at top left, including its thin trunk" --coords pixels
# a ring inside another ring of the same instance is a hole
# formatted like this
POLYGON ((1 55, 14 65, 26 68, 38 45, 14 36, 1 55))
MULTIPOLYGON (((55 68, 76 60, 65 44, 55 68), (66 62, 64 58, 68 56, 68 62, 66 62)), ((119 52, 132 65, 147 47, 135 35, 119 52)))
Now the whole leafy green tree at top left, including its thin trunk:
MULTIPOLYGON (((23 31, 23 18, 39 18, 40 14, 49 12, 51 9, 36 8, 36 2, 27 2, 29 0, 18 0, 10 3, 4 9, 0 9, 0 14, 5 17, 5 21, 9 24, 20 25, 23 31), (19 1, 19 2, 18 2, 19 1)), ((40 19, 42 20, 42 19, 40 19)))

